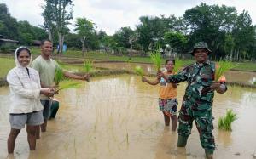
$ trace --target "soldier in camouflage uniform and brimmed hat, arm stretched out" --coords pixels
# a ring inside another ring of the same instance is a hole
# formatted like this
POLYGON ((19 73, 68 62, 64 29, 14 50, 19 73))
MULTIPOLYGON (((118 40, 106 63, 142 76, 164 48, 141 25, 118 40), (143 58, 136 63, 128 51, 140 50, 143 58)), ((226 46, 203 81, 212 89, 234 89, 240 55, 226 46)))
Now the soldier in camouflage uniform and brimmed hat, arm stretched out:
POLYGON ((215 150, 212 135, 212 99, 214 91, 224 94, 227 87, 224 82, 214 82, 215 64, 208 60, 208 55, 212 54, 212 51, 208 48, 207 43, 195 43, 190 54, 195 57, 194 65, 189 65, 177 75, 172 76, 166 76, 159 71, 157 77, 164 77, 167 82, 188 82, 178 116, 177 146, 186 146, 192 122, 195 120, 201 146, 205 149, 207 158, 212 158, 215 150))

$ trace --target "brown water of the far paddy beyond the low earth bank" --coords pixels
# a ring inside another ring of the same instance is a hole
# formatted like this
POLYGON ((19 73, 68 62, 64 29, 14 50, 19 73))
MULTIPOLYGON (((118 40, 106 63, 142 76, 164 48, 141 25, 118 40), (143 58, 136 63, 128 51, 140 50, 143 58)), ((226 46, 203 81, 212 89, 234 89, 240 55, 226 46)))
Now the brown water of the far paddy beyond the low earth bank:
MULTIPOLYGON (((122 69, 128 71, 134 71, 135 66, 140 65, 143 71, 148 73, 155 73, 154 65, 149 64, 136 64, 136 63, 95 63, 97 67, 109 68, 109 69, 122 69)), ((228 71, 225 74, 227 81, 229 82, 245 82, 251 84, 253 80, 256 80, 256 72, 250 71, 228 71)))

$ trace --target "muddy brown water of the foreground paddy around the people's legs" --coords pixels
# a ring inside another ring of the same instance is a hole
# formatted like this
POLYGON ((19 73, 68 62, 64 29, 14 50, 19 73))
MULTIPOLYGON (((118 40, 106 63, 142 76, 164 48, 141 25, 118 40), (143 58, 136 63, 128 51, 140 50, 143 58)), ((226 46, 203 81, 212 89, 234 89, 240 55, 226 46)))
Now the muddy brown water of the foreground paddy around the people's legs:
MULTIPOLYGON (((181 103, 185 84, 178 87, 181 103)), ((6 158, 9 134, 9 88, 0 88, 0 158, 6 158)), ((140 77, 97 77, 81 88, 62 91, 61 107, 48 131, 30 151, 23 129, 16 140, 15 158, 204 158, 196 128, 185 148, 177 148, 177 132, 166 128, 158 111, 158 87, 140 77)), ((256 152, 256 89, 231 87, 217 94, 212 108, 215 158, 253 158, 256 152), (238 120, 230 133, 218 130, 218 117, 233 109, 238 120)), ((179 105, 180 107, 180 105, 179 105)), ((8 156, 13 158, 14 156, 8 156)))

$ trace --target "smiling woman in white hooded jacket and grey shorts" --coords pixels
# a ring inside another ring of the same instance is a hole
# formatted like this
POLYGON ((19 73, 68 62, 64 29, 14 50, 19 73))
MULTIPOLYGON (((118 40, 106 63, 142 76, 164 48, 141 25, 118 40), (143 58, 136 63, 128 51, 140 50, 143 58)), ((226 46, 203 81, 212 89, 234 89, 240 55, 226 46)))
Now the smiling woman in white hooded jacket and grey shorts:
POLYGON ((27 132, 30 150, 36 148, 36 128, 44 122, 40 94, 53 96, 54 88, 41 88, 38 71, 28 67, 31 63, 29 48, 20 47, 15 51, 15 68, 9 71, 7 82, 10 88, 8 152, 13 153, 15 139, 21 128, 27 132))

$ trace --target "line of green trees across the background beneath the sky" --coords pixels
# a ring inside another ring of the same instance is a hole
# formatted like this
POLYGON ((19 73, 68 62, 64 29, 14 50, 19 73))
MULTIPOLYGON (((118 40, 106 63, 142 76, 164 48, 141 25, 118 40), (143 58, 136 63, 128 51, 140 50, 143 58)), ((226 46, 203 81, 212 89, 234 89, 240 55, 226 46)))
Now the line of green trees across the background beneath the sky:
POLYGON ((213 59, 256 59, 256 26, 246 10, 238 14, 234 7, 201 3, 186 10, 182 17, 142 16, 136 29, 121 27, 109 36, 105 31, 96 31, 93 20, 85 17, 77 18, 74 31, 70 31, 67 25, 73 19, 72 0, 44 1, 42 27, 17 21, 6 5, 0 4, 0 34, 26 45, 49 38, 60 46, 66 43, 68 48, 81 49, 83 54, 98 49, 129 54, 137 49, 140 55, 146 55, 160 46, 171 47, 183 56, 195 42, 204 41, 212 49, 213 59))

